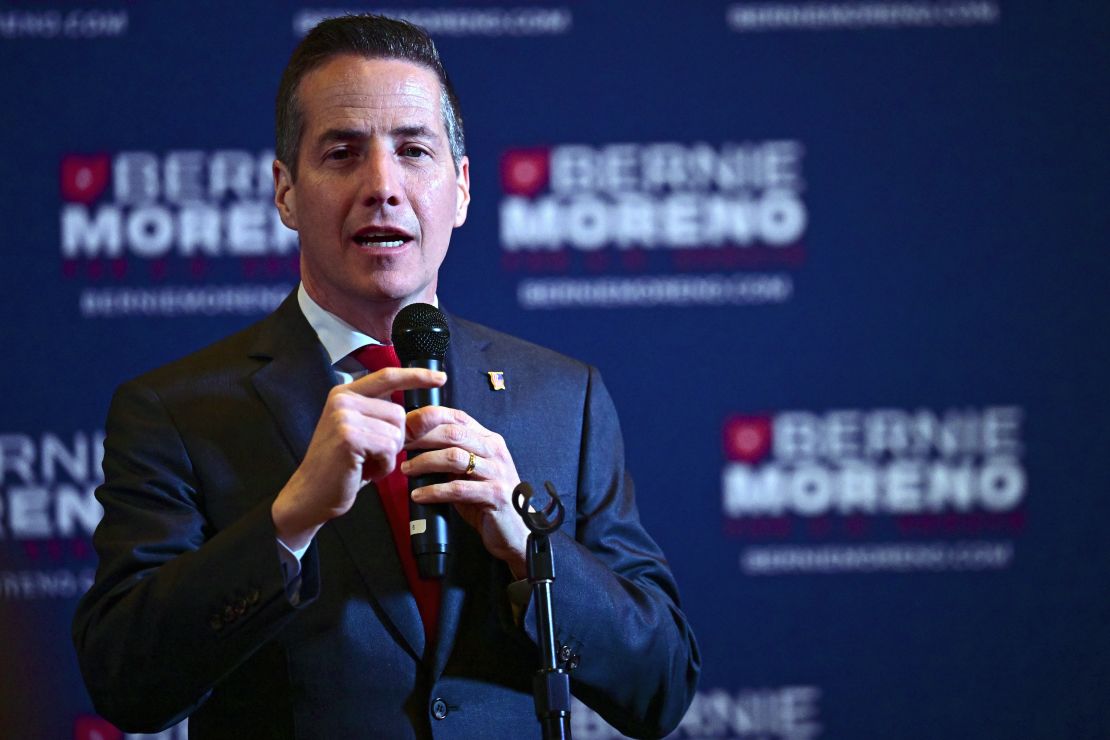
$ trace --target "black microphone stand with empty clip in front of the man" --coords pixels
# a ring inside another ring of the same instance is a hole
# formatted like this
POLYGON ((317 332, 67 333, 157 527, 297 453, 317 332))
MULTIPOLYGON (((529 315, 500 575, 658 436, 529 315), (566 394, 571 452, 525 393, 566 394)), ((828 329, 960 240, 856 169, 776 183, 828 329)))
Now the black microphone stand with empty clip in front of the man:
POLYGON ((539 670, 532 678, 532 692, 544 740, 571 740, 571 677, 556 665, 555 620, 552 614, 555 554, 547 539, 563 524, 566 510, 555 493, 555 486, 546 481, 544 488, 551 501, 543 511, 529 510, 528 503, 534 491, 527 483, 521 483, 513 490, 513 507, 531 533, 527 546, 528 582, 532 584, 532 598, 536 600, 541 651, 539 670))

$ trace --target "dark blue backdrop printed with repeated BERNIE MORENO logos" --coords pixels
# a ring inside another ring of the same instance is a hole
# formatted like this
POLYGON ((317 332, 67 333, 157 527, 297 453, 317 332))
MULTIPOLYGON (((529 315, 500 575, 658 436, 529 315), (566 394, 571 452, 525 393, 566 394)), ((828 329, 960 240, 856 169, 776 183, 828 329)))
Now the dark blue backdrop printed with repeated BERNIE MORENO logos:
MULTIPOLYGON (((69 640, 108 399, 295 285, 273 98, 347 9, 0 6, 4 737, 122 737, 69 640)), ((374 9, 463 102, 441 301, 613 391, 675 737, 1110 737, 1104 3, 374 9)))

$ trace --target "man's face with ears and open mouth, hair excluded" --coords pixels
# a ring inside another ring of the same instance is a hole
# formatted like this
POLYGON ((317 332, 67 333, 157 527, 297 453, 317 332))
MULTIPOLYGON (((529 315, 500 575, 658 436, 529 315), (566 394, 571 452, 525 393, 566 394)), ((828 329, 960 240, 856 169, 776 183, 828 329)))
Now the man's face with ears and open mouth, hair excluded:
POLYGON ((452 160, 441 95, 417 64, 337 57, 299 88, 296 182, 274 164, 305 290, 376 338, 402 307, 432 301, 451 232, 466 217, 468 163, 456 170, 452 160))

